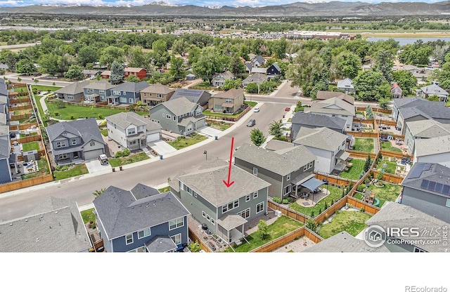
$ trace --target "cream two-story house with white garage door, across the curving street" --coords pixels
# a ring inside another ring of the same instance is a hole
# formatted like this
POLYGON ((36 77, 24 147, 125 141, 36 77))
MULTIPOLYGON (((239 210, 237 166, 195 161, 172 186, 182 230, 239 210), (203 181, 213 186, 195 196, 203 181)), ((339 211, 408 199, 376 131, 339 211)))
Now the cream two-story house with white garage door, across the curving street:
POLYGON ((136 112, 120 112, 105 120, 108 138, 129 150, 145 148, 148 142, 161 139, 161 125, 136 112))

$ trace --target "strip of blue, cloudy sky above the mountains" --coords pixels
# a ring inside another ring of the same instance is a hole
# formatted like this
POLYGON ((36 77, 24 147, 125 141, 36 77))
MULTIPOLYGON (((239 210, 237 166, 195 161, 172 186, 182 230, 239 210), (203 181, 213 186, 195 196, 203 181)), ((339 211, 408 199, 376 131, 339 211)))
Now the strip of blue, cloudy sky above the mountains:
MULTIPOLYGON (((37 4, 71 4, 71 5, 110 5, 110 6, 141 6, 145 4, 150 4, 155 0, 0 0, 0 7, 8 6, 28 6, 37 4)), ((345 2, 355 2, 358 0, 344 0, 345 2)), ((377 0, 367 0, 363 2, 368 3, 378 3, 381 2, 377 0)), ((386 1, 386 0, 385 0, 386 1)), ((395 0, 390 2, 427 2, 435 3, 439 0, 395 0)), ((264 0, 169 0, 165 1, 169 4, 193 4, 197 6, 267 6, 267 1, 264 0)), ((280 4, 290 4, 294 2, 328 2, 321 0, 310 0, 310 1, 295 1, 295 0, 272 0, 269 5, 280 5, 280 4)))

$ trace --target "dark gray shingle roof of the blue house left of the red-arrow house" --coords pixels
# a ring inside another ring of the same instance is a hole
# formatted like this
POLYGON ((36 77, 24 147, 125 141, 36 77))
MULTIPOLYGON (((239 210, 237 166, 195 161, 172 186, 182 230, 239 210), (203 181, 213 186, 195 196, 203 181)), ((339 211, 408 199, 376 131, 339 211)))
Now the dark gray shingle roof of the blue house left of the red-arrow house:
POLYGON ((171 192, 155 194, 147 189, 146 195, 139 187, 138 199, 133 190, 110 186, 93 201, 109 240, 189 215, 171 192))

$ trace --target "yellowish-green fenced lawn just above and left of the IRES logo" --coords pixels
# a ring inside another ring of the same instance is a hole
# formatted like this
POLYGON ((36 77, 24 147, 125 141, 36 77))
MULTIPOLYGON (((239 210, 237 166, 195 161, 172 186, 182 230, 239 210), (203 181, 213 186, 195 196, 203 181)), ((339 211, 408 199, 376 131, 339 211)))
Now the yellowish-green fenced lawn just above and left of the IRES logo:
POLYGON ((339 232, 346 231, 355 237, 367 227, 366 221, 369 218, 371 218, 371 215, 363 212, 340 211, 333 217, 331 223, 322 225, 317 234, 327 239, 339 232))

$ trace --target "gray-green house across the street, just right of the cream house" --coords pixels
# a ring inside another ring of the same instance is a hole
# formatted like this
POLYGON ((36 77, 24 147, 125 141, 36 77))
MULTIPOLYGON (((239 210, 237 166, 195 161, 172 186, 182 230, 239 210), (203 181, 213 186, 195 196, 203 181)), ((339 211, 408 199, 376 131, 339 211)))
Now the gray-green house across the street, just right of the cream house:
POLYGON ((203 107, 187 98, 171 98, 150 109, 150 119, 165 131, 189 135, 206 125, 203 107))

